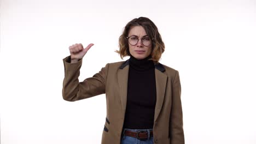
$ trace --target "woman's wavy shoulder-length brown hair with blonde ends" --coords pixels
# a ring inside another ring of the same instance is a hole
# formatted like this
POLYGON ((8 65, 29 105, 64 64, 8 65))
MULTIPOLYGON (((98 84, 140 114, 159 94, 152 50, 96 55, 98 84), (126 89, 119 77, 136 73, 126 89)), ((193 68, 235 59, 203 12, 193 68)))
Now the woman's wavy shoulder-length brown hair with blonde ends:
POLYGON ((162 41, 160 33, 158 32, 158 28, 155 26, 154 22, 147 17, 139 17, 127 23, 123 34, 121 34, 119 37, 119 50, 116 50, 115 52, 119 53, 121 59, 123 59, 125 56, 131 56, 126 37, 128 37, 130 29, 134 26, 142 26, 147 35, 150 38, 153 38, 152 53, 150 54, 152 58, 150 59, 152 59, 155 63, 158 63, 162 53, 165 51, 165 44, 162 41))

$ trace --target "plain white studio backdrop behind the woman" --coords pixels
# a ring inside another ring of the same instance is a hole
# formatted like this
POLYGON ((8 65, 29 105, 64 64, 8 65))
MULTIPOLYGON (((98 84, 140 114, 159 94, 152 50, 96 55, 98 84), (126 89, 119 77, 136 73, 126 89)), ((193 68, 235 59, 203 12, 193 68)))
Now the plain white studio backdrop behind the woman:
POLYGON ((68 47, 95 45, 79 80, 106 63, 130 20, 149 17, 179 71, 185 142, 256 143, 256 1, 1 0, 1 144, 100 143, 105 95, 62 99, 68 47))

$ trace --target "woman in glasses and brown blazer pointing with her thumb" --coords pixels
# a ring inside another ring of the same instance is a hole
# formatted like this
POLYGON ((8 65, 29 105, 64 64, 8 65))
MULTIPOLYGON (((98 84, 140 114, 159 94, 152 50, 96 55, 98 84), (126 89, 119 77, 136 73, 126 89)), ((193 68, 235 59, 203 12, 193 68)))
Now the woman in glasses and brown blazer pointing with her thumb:
POLYGON ((106 93, 102 143, 184 143, 179 73, 159 63, 165 46, 155 24, 147 17, 127 23, 117 52, 130 58, 79 82, 82 58, 92 45, 69 46, 62 95, 75 101, 106 93))

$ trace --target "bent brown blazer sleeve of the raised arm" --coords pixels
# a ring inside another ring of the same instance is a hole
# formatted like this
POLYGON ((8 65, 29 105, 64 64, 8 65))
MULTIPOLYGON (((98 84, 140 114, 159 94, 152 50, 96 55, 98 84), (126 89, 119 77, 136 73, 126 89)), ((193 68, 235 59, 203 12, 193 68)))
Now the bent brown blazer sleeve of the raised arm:
POLYGON ((70 63, 70 56, 63 59, 65 77, 63 80, 62 97, 67 101, 76 101, 105 93, 108 64, 98 73, 79 82, 80 68, 83 59, 70 63))

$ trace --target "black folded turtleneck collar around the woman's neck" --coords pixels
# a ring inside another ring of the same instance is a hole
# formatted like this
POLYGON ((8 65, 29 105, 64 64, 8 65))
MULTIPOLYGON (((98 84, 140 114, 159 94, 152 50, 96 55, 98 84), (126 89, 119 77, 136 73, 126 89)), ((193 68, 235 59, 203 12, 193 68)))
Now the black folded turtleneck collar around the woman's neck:
POLYGON ((148 60, 149 58, 152 58, 152 56, 148 56, 144 59, 137 59, 133 57, 132 55, 130 56, 130 66, 131 68, 137 70, 137 71, 145 71, 148 69, 152 69, 155 67, 154 61, 148 60))

